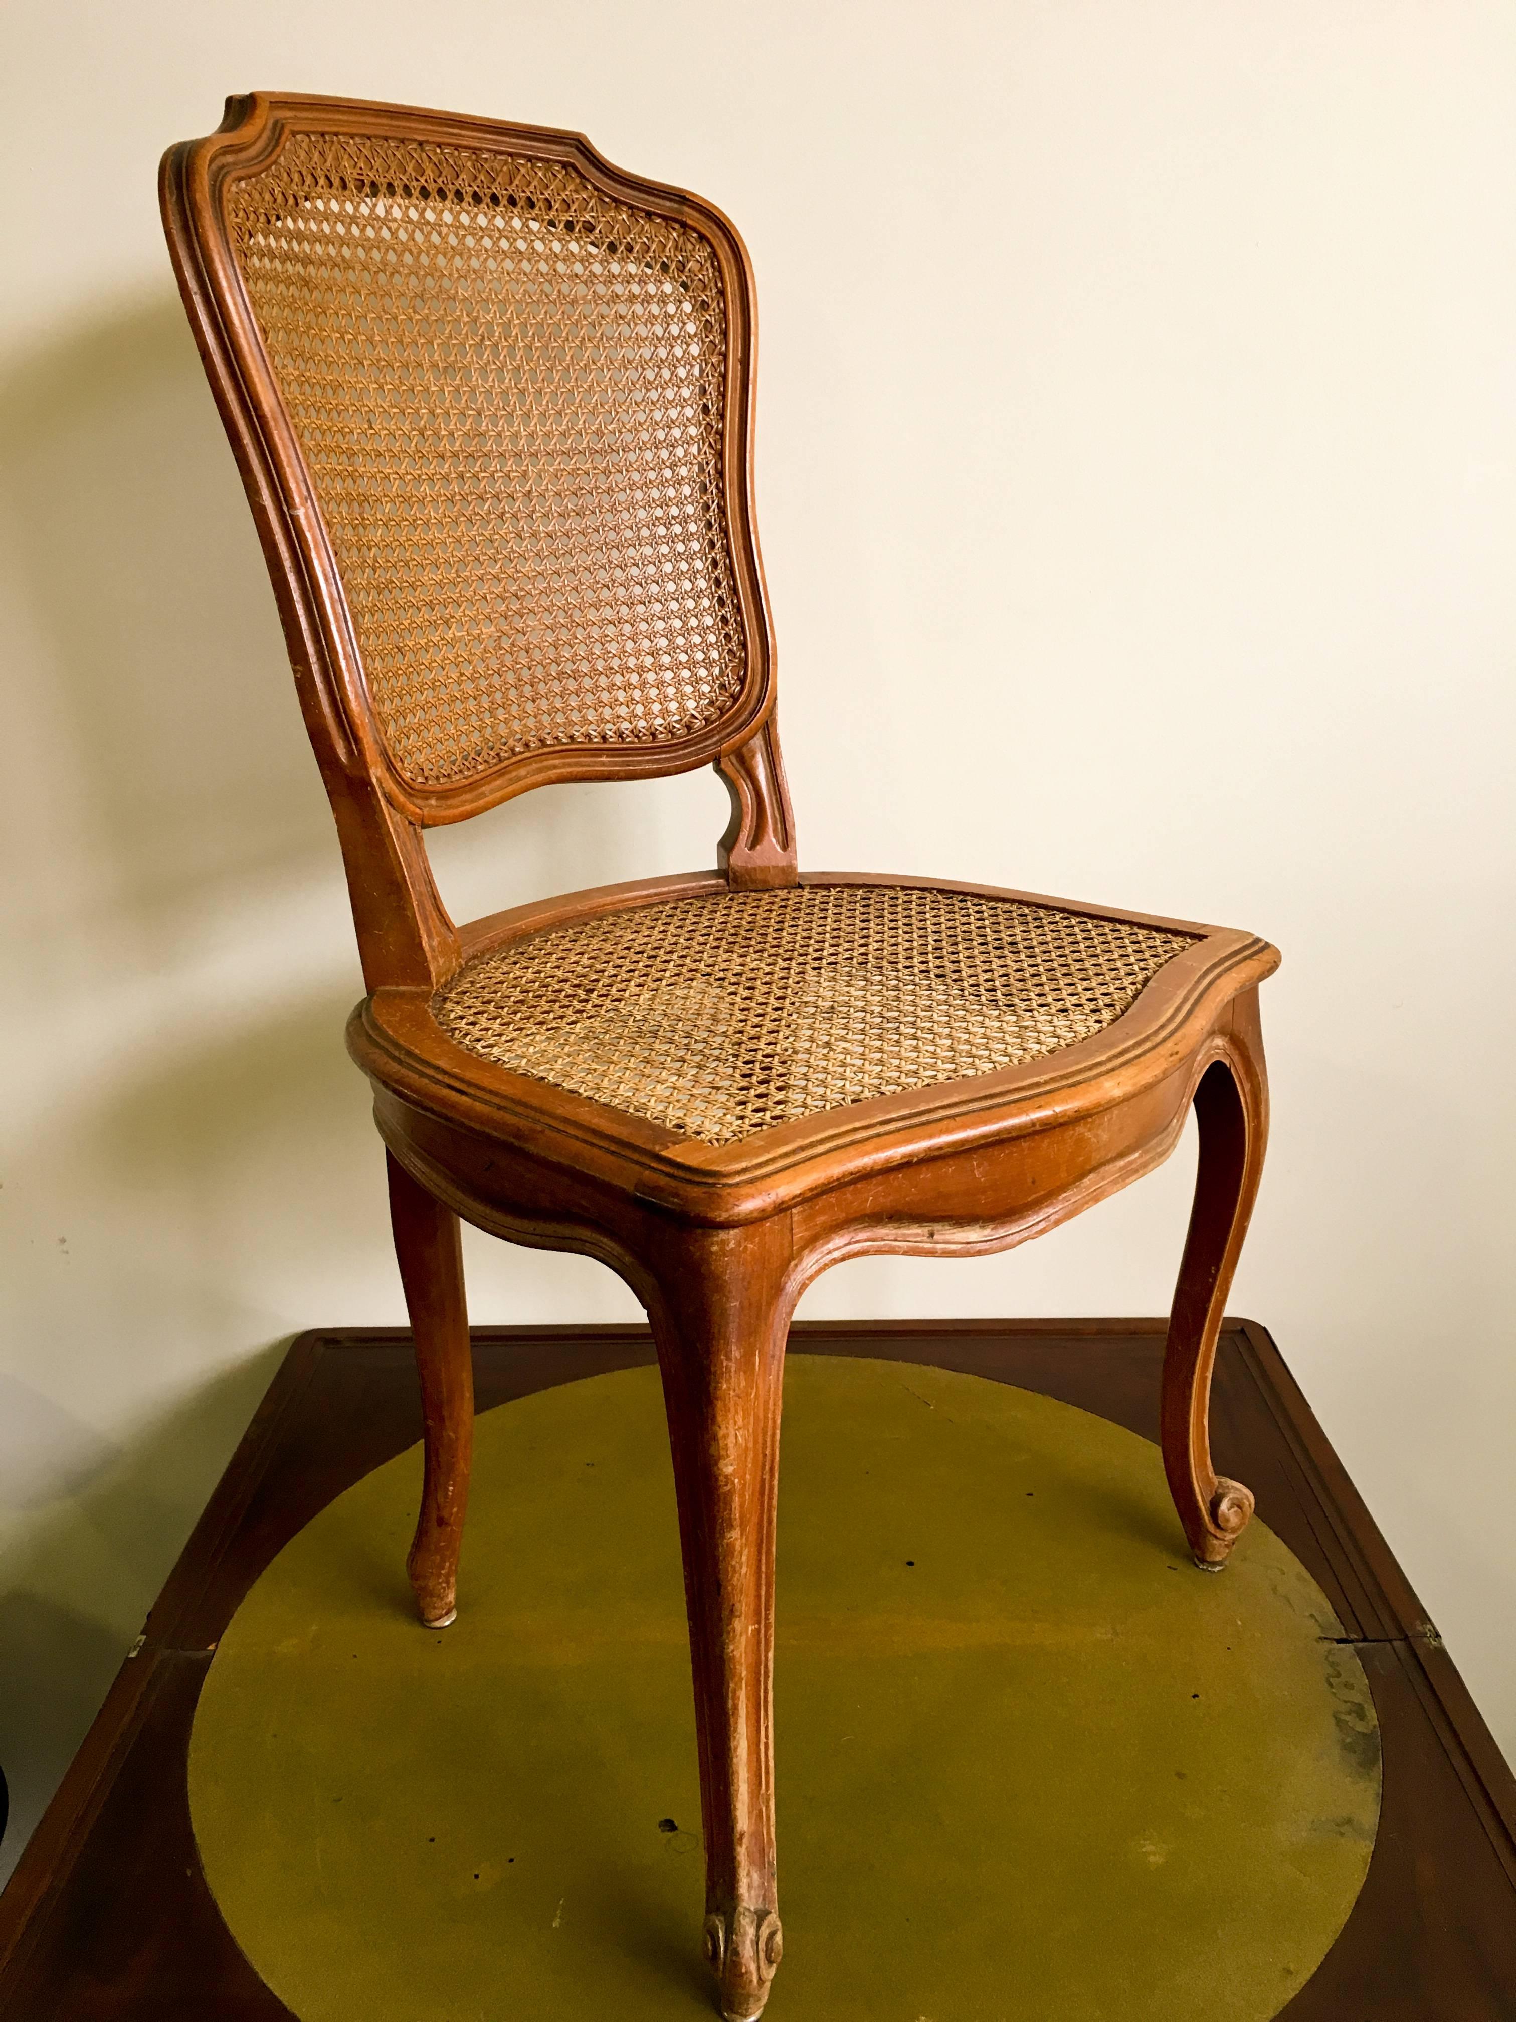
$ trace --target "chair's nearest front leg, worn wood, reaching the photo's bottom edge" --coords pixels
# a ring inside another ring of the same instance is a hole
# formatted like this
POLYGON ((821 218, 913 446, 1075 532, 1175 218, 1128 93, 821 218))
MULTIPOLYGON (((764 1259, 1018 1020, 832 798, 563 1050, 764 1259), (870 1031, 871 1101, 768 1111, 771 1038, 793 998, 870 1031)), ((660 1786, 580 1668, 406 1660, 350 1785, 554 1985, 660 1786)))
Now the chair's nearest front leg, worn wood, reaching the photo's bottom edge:
POLYGON ((705 1830, 705 1959, 722 2014, 762 2014, 774 1887, 774 1508, 790 1298, 770 1229, 689 1231, 659 1270, 705 1830))

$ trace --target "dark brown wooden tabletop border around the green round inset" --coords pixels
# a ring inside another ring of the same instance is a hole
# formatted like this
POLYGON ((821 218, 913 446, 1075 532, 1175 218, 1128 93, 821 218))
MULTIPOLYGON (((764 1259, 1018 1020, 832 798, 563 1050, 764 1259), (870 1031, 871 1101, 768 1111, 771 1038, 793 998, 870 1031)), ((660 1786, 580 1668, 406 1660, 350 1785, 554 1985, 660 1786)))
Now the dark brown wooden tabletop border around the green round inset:
MULTIPOLYGON (((1162 1324, 798 1324, 790 1353, 871 1355, 1023 1383, 1158 1432, 1162 1324)), ((645 1328, 479 1328, 479 1405, 649 1363, 645 1328)), ((305 1335, 0 1897, 0 2022, 287 2022, 210 1899, 184 1761, 210 1648, 275 1553, 418 1436, 396 1330, 305 1335)), ((1516 1779, 1425 1610, 1263 1328, 1229 1322, 1221 1462, 1322 1583, 1370 1676, 1385 1812, 1342 1937, 1282 2022, 1508 2022, 1516 2004, 1516 1779)))

